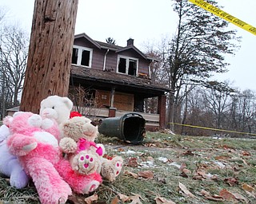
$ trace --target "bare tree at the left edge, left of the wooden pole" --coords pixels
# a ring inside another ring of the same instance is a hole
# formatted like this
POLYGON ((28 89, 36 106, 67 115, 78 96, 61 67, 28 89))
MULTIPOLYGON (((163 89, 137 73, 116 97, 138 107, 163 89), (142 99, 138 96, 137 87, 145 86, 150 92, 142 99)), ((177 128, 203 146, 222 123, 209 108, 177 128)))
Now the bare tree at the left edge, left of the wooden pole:
POLYGON ((6 108, 18 106, 26 71, 29 37, 18 26, 1 29, 0 76, 2 84, 2 117, 6 108))

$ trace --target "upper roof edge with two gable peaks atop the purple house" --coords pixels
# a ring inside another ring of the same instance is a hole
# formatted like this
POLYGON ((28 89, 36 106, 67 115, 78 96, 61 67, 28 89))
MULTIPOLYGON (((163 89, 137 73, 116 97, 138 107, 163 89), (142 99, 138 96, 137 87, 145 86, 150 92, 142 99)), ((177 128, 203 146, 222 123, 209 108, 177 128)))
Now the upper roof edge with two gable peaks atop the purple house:
POLYGON ((102 42, 102 41, 94 41, 92 38, 90 38, 88 35, 86 35, 86 33, 80 33, 80 34, 74 35, 74 39, 78 39, 81 37, 86 38, 93 45, 95 45, 98 49, 110 49, 116 53, 120 53, 120 52, 128 50, 128 49, 133 49, 136 53, 138 53, 140 56, 142 56, 146 60, 158 61, 157 58, 150 57, 150 56, 147 56, 146 54, 142 53, 134 45, 128 45, 126 47, 122 47, 122 46, 118 46, 118 45, 114 45, 114 44, 110 44, 110 43, 106 43, 106 42, 102 42))

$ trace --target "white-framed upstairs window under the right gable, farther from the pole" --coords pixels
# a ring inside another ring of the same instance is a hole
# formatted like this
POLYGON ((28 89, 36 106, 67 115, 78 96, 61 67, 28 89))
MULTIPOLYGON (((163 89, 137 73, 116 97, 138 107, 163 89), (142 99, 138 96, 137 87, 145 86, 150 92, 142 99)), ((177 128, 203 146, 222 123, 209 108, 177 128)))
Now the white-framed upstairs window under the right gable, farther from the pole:
POLYGON ((132 57, 118 56, 118 73, 137 76, 138 59, 132 57))

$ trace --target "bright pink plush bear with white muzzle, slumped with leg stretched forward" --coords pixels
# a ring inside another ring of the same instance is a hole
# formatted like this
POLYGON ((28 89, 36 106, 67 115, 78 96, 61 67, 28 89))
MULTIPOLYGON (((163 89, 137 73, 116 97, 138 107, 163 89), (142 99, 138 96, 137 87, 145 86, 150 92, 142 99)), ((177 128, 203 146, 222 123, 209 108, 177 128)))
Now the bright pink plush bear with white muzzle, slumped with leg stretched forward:
POLYGON ((62 159, 58 135, 44 131, 43 121, 41 116, 31 112, 15 113, 8 123, 7 146, 32 178, 42 204, 66 202, 72 190, 54 167, 62 159))

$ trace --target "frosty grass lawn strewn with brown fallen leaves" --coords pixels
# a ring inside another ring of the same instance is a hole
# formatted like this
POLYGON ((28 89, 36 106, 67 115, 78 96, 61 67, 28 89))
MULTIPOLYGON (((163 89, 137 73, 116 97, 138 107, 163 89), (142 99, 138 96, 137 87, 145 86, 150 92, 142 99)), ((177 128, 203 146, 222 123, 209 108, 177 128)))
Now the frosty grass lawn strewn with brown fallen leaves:
MULTIPOLYGON (((98 194, 98 201, 94 203, 135 203, 135 198, 141 203, 156 203, 155 198, 174 203, 255 203, 254 139, 147 132, 141 145, 129 145, 104 136, 98 138, 98 143, 105 144, 108 155, 122 155, 125 165, 115 182, 103 182, 94 192, 98 194), (141 172, 151 172, 153 178, 138 176, 141 172), (251 191, 245 186, 250 186, 251 191), (217 197, 220 194, 222 197, 217 197), (122 201, 122 195, 130 197, 130 201, 122 201), (214 198, 219 198, 218 202, 212 201, 214 198)), ((74 194, 68 203, 86 203, 84 199, 88 196, 74 194)), ((34 186, 15 190, 4 178, 0 179, 0 200, 2 203, 38 203, 34 186)))

